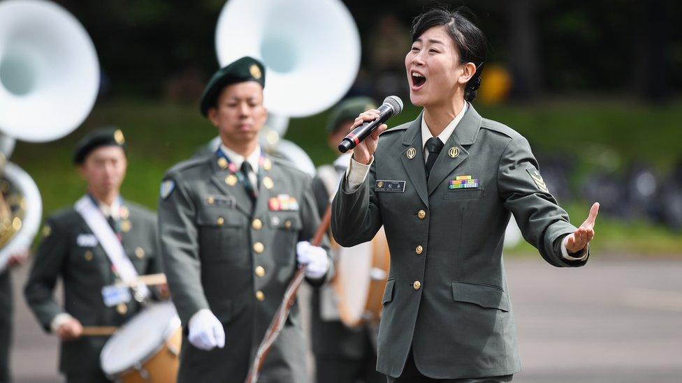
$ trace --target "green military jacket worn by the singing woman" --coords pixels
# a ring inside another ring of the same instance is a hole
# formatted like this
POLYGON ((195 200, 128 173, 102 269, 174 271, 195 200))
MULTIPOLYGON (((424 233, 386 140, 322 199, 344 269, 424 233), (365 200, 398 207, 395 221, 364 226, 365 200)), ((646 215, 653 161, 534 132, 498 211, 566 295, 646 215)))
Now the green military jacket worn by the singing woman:
POLYGON ((391 271, 384 292, 377 370, 398 377, 410 347, 423 375, 491 377, 521 370, 502 243, 513 214, 523 237, 554 266, 576 228, 546 189, 528 141, 469 107, 428 182, 421 115, 387 130, 365 182, 333 201, 342 246, 384 225, 391 271), (458 177, 470 188, 450 188, 458 177), (473 187, 475 186, 475 187, 473 187))

